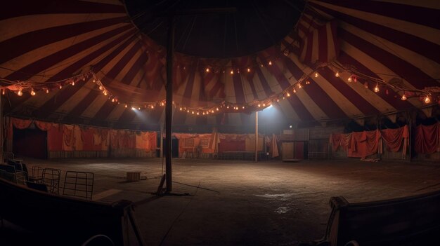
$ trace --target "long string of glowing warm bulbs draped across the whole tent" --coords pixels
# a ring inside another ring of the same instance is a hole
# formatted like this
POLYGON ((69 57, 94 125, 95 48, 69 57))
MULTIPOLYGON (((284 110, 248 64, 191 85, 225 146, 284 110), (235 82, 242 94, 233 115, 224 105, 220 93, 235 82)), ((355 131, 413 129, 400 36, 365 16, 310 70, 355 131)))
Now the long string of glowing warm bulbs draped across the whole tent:
MULTIPOLYGON (((267 66, 271 66, 273 64, 272 60, 268 60, 267 66)), ((262 63, 260 64, 260 66, 262 63)), ((299 78, 295 83, 292 83, 291 86, 285 88, 282 92, 278 94, 274 94, 271 97, 268 97, 264 100, 254 100, 252 102, 246 103, 235 103, 235 102, 227 102, 223 101, 219 104, 216 104, 211 107, 189 107, 184 104, 174 103, 174 108, 176 110, 186 112, 188 114, 192 114, 195 116, 198 115, 209 115, 209 114, 219 114, 219 113, 230 113, 230 112, 250 112, 250 111, 259 111, 265 109, 266 107, 270 107, 274 102, 280 102, 280 100, 285 100, 288 97, 292 96, 292 94, 297 93, 297 90, 302 89, 304 86, 307 86, 311 83, 311 77, 318 78, 320 76, 319 70, 323 67, 330 67, 332 71, 335 72, 335 77, 342 78, 342 74, 347 79, 347 83, 363 83, 363 86, 366 89, 371 89, 375 93, 379 93, 381 88, 385 88, 386 95, 389 95, 388 90, 394 90, 396 93, 401 94, 401 100, 408 100, 410 98, 418 98, 420 101, 425 104, 431 104, 432 102, 437 102, 440 100, 440 88, 432 87, 425 88, 424 90, 406 88, 403 85, 402 79, 401 83, 391 83, 390 81, 384 81, 380 78, 374 78, 361 72, 357 71, 354 67, 347 67, 342 64, 325 64, 316 68, 315 70, 309 72, 308 74, 304 73, 302 78, 299 78), (347 76, 348 74, 348 76, 347 76), (373 84, 373 86, 370 86, 373 84)), ((206 67, 205 71, 207 73, 212 72, 212 67, 206 67)), ((233 76, 234 71, 238 71, 239 68, 231 69, 230 74, 233 76)), ((247 71, 250 72, 250 67, 247 67, 247 71)), ((304 72, 304 71, 303 71, 304 72)), ((290 76, 289 80, 293 76, 290 76)), ((112 103, 122 104, 125 108, 130 109, 138 109, 138 110, 153 110, 155 107, 164 107, 166 102, 165 99, 158 100, 157 102, 120 102, 117 95, 111 93, 108 88, 104 86, 98 76, 93 72, 89 71, 85 74, 79 74, 76 76, 72 76, 70 78, 66 78, 62 81, 46 81, 44 83, 37 83, 34 81, 8 81, 6 79, 0 79, 1 81, 1 93, 5 95, 7 90, 12 91, 18 96, 22 96, 23 93, 30 93, 31 96, 37 95, 39 91, 43 91, 45 93, 50 93, 51 90, 62 89, 64 86, 75 86, 77 83, 86 82, 91 80, 96 84, 98 90, 102 92, 102 94, 110 100, 112 103)))

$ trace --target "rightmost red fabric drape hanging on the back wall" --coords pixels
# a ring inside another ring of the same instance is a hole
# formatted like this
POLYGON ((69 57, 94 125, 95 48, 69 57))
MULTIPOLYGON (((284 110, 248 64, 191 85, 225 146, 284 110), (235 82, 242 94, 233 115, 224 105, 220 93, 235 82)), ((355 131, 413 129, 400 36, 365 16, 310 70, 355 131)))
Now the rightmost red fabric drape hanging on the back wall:
POLYGON ((415 128, 415 145, 417 153, 434 153, 439 151, 440 127, 434 125, 419 125, 415 128))

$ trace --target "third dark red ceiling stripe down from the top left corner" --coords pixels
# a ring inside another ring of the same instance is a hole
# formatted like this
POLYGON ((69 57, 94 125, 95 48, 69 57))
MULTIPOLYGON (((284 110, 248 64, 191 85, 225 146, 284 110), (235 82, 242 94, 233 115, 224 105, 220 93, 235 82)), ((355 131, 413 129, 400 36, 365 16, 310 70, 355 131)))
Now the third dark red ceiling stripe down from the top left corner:
POLYGON ((105 32, 99 36, 95 36, 91 39, 87 39, 86 41, 82 41, 80 43, 76 43, 69 48, 65 48, 60 50, 52 55, 48 55, 36 62, 33 62, 26 67, 22 67, 20 70, 15 71, 13 74, 8 75, 6 78, 11 81, 15 80, 26 80, 32 77, 32 74, 38 74, 40 71, 44 71, 49 67, 52 67, 63 60, 72 57, 72 55, 81 52, 82 50, 86 50, 91 46, 95 46, 97 43, 101 43, 102 41, 106 41, 110 39, 112 36, 119 34, 120 32, 124 32, 128 29, 128 26, 119 27, 117 29, 111 30, 110 32, 105 32))

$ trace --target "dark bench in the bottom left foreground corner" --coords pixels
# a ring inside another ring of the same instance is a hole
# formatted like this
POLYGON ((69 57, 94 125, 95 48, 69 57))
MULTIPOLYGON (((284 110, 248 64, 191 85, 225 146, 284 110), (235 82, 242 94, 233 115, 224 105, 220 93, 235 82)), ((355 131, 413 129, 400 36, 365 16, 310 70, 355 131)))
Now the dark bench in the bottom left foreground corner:
MULTIPOLYGON (((36 191, 0 179, 0 218, 37 233, 35 245, 82 245, 106 235, 115 245, 129 245, 130 226, 144 245, 132 214, 133 203, 98 203, 36 191), (131 222, 131 223, 129 223, 131 222)), ((131 240, 131 241, 134 241, 131 240)))

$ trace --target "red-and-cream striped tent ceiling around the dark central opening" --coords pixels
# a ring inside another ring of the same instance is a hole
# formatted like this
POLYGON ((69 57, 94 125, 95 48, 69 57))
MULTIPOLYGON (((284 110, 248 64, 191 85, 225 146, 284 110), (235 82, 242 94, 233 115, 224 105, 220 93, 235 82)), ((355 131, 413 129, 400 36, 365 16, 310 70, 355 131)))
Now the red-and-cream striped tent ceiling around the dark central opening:
MULTIPOLYGON (((8 6, 0 10, 6 114, 127 127, 163 121, 166 49, 121 1, 8 6)), ((311 124, 392 115, 438 104, 439 78, 437 1, 310 0, 291 32, 257 53, 176 53, 174 124, 246 124, 268 105, 280 121, 311 124)))

